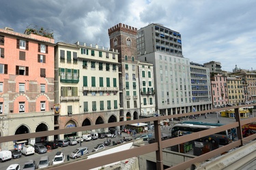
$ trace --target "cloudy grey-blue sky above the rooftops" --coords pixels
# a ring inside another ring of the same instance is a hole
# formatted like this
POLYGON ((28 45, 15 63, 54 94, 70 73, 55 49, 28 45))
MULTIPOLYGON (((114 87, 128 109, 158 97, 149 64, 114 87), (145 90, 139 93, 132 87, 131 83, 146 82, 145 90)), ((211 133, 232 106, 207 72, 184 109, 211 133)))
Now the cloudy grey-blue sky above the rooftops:
POLYGON ((221 62, 232 71, 256 69, 254 0, 12 0, 1 1, 0 27, 24 33, 30 24, 52 29, 55 42, 109 47, 119 22, 140 29, 160 23, 180 32, 184 57, 221 62))

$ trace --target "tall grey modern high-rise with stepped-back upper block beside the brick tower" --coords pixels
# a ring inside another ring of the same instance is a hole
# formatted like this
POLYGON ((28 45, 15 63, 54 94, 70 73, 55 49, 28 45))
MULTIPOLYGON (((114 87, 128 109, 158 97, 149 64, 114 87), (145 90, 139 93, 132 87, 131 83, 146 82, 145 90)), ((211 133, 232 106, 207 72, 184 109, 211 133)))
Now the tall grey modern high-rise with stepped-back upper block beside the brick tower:
POLYGON ((138 31, 137 49, 139 61, 154 65, 156 112, 192 112, 190 62, 182 55, 180 33, 162 24, 149 24, 138 31))

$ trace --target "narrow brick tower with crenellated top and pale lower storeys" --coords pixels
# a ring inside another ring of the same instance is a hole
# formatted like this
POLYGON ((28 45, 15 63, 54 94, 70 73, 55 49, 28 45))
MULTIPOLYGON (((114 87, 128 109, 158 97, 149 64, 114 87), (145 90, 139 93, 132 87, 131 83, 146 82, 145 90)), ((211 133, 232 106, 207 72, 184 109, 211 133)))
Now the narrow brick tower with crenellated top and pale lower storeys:
POLYGON ((138 119, 141 112, 138 86, 137 29, 119 23, 108 31, 111 49, 119 52, 119 121, 138 119))

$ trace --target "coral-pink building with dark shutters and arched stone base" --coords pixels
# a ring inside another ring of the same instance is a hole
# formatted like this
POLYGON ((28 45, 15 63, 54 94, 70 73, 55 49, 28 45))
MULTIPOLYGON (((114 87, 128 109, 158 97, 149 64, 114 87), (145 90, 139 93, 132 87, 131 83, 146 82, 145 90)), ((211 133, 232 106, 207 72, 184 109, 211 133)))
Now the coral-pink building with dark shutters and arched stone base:
MULTIPOLYGON (((52 33, 0 29, 0 136, 54 129, 54 47, 52 33)), ((1 149, 44 139, 53 137, 2 143, 1 149)))

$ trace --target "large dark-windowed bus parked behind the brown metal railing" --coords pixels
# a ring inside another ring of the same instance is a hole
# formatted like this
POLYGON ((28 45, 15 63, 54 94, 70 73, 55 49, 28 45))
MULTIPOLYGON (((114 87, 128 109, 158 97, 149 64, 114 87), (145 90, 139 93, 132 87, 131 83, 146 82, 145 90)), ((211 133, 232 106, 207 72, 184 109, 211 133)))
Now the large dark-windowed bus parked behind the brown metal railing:
MULTIPOLYGON (((175 124, 171 128, 171 137, 179 137, 180 135, 196 133, 199 131, 216 128, 222 125, 223 124, 219 124, 219 123, 214 124, 214 123, 208 123, 208 122, 182 122, 179 124, 175 124)), ((207 137, 196 139, 196 141, 205 141, 206 139, 216 139, 220 145, 227 145, 232 141, 231 129, 226 131, 221 131, 219 133, 212 134, 207 137)))

